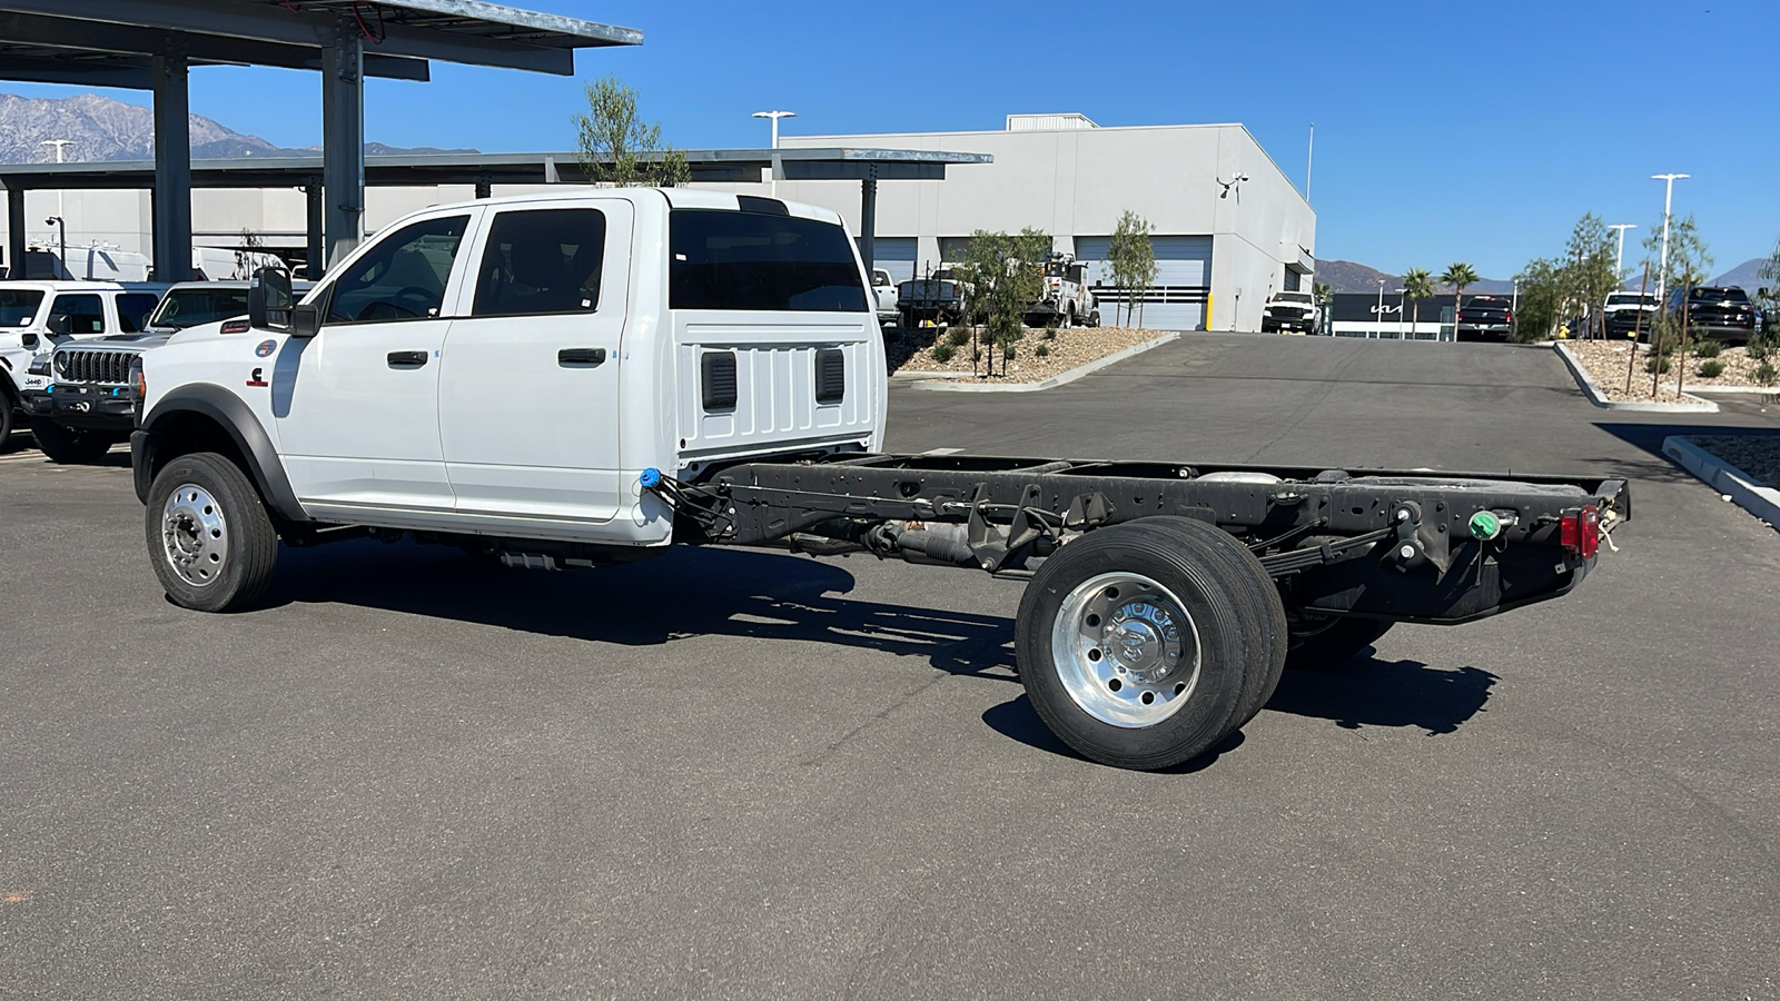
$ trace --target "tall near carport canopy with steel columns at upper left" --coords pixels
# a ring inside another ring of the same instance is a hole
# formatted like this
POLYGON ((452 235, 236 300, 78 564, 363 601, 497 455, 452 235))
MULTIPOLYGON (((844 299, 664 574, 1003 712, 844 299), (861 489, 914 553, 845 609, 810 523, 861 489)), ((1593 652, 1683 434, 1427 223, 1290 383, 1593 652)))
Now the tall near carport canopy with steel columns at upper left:
MULTIPOLYGON (((643 32, 484 0, 0 0, 0 78, 153 91, 155 264, 167 280, 190 265, 192 66, 322 73, 320 232, 338 256, 363 226, 367 75, 427 80, 440 59, 568 77, 577 48, 612 45, 643 45, 643 32)), ((9 198, 9 262, 23 260, 23 198, 9 198)))

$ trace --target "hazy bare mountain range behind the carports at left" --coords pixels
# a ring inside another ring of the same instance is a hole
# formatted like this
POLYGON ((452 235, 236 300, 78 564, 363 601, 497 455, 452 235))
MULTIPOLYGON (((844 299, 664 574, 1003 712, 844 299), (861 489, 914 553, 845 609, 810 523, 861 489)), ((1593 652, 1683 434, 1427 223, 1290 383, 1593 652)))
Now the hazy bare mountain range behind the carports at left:
MULTIPOLYGON (((192 159, 235 157, 313 157, 320 146, 274 146, 258 135, 235 132, 201 114, 190 116, 192 159)), ((151 160, 155 157, 155 112, 142 105, 116 102, 100 94, 71 98, 21 98, 0 94, 0 164, 43 164, 55 160, 46 139, 69 139, 69 160, 151 160)), ((367 142, 367 153, 475 153, 475 150, 436 150, 431 146, 386 146, 367 142)))

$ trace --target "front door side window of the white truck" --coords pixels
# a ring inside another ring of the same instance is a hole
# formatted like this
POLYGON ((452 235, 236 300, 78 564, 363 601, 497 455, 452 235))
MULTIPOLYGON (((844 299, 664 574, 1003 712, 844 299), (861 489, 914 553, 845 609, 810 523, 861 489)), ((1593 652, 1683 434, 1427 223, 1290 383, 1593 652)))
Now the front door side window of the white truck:
POLYGON ((379 239, 328 294, 329 324, 440 315, 468 216, 422 219, 379 239))

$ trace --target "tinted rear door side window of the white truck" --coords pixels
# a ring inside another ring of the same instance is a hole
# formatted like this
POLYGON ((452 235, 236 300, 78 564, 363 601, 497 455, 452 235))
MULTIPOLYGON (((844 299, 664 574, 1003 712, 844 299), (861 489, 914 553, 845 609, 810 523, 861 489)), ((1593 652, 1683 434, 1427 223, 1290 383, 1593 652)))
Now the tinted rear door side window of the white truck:
POLYGON ((600 308, 605 212, 522 208, 495 216, 477 269, 477 317, 591 313, 600 308))

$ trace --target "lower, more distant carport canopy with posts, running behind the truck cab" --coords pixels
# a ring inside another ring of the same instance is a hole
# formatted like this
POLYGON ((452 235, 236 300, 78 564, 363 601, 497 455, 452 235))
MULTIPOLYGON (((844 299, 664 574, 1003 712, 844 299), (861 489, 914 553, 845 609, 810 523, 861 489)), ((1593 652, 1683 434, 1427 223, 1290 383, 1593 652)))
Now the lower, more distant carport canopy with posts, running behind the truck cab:
MULTIPOLYGON (((0 0, 4 2, 4 0, 0 0)), ((644 153, 643 160, 660 153, 644 153)), ((874 264, 879 180, 943 180, 945 167, 988 164, 990 153, 951 153, 943 150, 685 150, 694 182, 758 182, 771 169, 778 180, 856 180, 860 182, 860 255, 865 267, 874 264)), ((326 157, 253 157, 233 160, 192 160, 192 187, 301 187, 308 192, 310 274, 322 260, 322 191, 328 189, 326 157)), ((23 196, 34 189, 142 189, 157 187, 158 164, 150 160, 110 160, 87 164, 7 164, 0 166, 0 187, 20 224, 12 226, 11 251, 23 260, 23 196)), ((377 187, 475 185, 477 198, 488 198, 497 183, 591 183, 578 153, 424 153, 363 157, 363 178, 377 187)), ((189 228, 187 228, 189 232, 189 228)), ((158 249, 158 240, 157 240, 158 249)), ((329 255, 331 260, 331 255, 329 255)))

